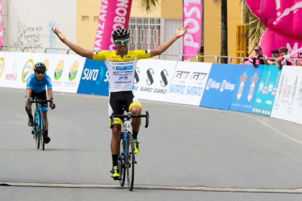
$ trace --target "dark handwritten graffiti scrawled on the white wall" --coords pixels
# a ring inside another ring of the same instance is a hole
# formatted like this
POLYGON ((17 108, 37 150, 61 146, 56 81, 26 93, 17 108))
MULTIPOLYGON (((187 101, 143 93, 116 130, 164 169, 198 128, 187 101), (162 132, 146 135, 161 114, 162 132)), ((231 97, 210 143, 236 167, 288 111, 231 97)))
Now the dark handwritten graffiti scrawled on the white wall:
MULTIPOLYGON (((24 47, 41 47, 41 34, 42 27, 31 27, 17 23, 17 34, 16 38, 13 40, 14 46, 20 47, 22 50, 24 47)), ((35 51, 35 49, 30 49, 35 51)))

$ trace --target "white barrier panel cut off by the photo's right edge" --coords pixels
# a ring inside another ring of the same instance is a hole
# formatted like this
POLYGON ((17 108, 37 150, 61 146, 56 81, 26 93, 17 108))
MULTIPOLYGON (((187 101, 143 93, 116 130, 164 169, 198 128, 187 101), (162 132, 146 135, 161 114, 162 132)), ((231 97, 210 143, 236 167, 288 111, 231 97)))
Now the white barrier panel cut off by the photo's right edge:
POLYGON ((293 103, 293 114, 291 121, 302 124, 302 67, 297 69, 297 82, 295 81, 294 88, 296 88, 294 103, 293 103))

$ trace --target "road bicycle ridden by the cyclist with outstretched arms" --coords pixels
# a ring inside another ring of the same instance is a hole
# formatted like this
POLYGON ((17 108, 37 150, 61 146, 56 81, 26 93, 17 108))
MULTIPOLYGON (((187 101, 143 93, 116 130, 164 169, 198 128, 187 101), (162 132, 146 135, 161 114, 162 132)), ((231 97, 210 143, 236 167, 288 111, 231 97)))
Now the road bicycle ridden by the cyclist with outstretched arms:
POLYGON ((145 128, 148 128, 149 125, 149 113, 146 111, 146 115, 132 115, 131 112, 124 112, 124 115, 114 115, 111 116, 111 126, 113 128, 113 119, 114 118, 122 119, 122 134, 120 137, 120 148, 119 155, 117 158, 118 170, 120 172, 119 184, 124 186, 126 174, 128 181, 128 188, 130 191, 133 189, 134 184, 134 164, 136 164, 135 154, 134 154, 134 145, 132 137, 132 118, 145 117, 146 125, 145 128))

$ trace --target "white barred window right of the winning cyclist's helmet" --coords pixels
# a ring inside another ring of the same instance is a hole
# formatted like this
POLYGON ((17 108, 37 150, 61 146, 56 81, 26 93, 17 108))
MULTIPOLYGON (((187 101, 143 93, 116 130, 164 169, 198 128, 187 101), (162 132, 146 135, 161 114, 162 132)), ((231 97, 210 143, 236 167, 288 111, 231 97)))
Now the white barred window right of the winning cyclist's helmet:
POLYGON ((151 50, 160 44, 160 18, 131 17, 130 50, 151 50))

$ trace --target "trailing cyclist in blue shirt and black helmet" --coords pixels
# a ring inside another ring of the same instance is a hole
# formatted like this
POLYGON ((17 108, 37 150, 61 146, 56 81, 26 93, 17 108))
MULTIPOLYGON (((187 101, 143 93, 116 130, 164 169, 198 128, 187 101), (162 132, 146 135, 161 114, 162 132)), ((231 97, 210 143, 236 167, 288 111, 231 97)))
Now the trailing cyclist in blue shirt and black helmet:
MULTIPOLYGON (((43 63, 37 63, 34 66, 35 73, 32 74, 27 79, 26 84, 26 97, 25 97, 25 110, 28 115, 28 126, 33 126, 34 124, 34 118, 32 115, 32 108, 31 104, 29 107, 27 107, 28 101, 33 101, 35 97, 41 100, 47 100, 46 97, 46 86, 47 86, 47 92, 48 96, 51 99, 51 102, 49 104, 50 108, 53 110, 55 109, 56 105, 54 104, 53 100, 53 89, 50 77, 46 75, 46 66, 43 63)), ((48 144, 50 142, 50 137, 48 136, 48 117, 47 117, 47 110, 48 110, 48 104, 47 102, 42 102, 42 112, 45 117, 45 143, 48 144)))

